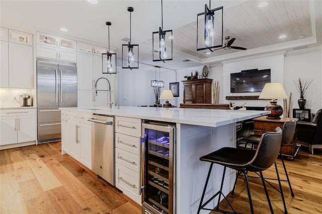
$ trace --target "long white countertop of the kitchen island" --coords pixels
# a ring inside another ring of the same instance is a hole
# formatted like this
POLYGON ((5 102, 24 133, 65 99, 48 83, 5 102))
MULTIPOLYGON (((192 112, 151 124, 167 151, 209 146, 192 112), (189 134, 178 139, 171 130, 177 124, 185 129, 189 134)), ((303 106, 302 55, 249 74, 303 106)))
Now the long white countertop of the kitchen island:
POLYGON ((213 109, 180 109, 120 106, 120 109, 107 108, 59 108, 61 110, 87 112, 93 114, 121 116, 171 123, 219 127, 268 115, 267 111, 238 111, 213 109))

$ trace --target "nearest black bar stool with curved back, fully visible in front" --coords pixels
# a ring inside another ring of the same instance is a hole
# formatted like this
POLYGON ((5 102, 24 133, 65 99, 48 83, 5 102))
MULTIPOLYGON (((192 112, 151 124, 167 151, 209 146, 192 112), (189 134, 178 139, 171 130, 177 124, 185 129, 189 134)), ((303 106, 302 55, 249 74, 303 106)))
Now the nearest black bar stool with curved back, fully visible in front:
MULTIPOLYGON (((245 150, 245 149, 239 149, 239 148, 224 147, 224 148, 214 151, 208 155, 202 156, 200 158, 201 161, 207 161, 207 162, 210 162, 211 164, 210 164, 209 172, 207 175, 205 187, 202 192, 200 204, 198 207, 198 213, 200 212, 201 209, 210 210, 210 211, 218 211, 218 212, 226 212, 224 210, 219 209, 219 202, 220 202, 221 195, 227 201, 227 203, 229 204, 233 213, 236 213, 235 210, 232 208, 231 204, 229 203, 229 201, 227 200, 227 198, 222 193, 222 187, 223 187, 223 181, 224 181, 226 167, 231 168, 231 169, 235 169, 238 171, 238 173, 244 174, 252 213, 254 213, 254 207, 253 207, 251 190, 249 187, 247 172, 248 171, 259 172, 260 176, 262 178, 264 190, 266 193, 268 204, 270 206, 271 213, 273 213, 272 204, 271 204, 271 201, 270 201, 267 189, 266 189, 266 185, 265 185, 262 171, 270 168, 273 165, 273 163, 275 162, 275 160, 277 159, 277 156, 278 156, 280 148, 281 148, 281 142, 282 142, 282 130, 281 130, 281 128, 277 127, 275 129, 275 132, 265 133, 261 136, 261 140, 258 144, 257 150, 245 150), (220 190, 216 194, 214 194, 211 198, 209 198, 206 202, 203 203, 203 199, 205 196, 207 184, 208 184, 211 169, 212 169, 212 165, 214 163, 224 166, 220 190), (212 209, 206 208, 205 206, 210 201, 212 201, 217 195, 219 196, 217 206, 212 209)), ((282 191, 282 189, 281 189, 281 191, 282 191)))

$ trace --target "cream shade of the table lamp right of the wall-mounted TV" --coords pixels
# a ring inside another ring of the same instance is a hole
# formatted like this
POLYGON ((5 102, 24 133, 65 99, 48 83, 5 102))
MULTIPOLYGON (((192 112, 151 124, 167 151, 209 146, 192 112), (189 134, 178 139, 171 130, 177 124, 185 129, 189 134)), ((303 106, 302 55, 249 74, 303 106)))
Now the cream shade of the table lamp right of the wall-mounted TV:
POLYGON ((288 98, 283 85, 279 82, 266 83, 258 97, 259 99, 282 99, 288 98))

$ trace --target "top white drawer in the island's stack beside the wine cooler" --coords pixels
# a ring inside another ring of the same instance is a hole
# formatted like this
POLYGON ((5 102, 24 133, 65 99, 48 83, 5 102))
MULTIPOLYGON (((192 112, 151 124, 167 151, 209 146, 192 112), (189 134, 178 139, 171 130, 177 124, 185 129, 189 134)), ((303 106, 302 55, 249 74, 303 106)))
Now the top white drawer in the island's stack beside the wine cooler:
POLYGON ((140 137, 141 119, 115 117, 115 132, 140 137))

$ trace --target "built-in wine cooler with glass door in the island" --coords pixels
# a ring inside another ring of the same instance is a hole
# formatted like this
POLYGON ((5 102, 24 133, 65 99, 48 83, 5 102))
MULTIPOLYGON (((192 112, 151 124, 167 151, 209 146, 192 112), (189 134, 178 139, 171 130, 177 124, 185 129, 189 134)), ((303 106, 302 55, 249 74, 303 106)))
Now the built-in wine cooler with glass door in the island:
POLYGON ((176 126, 142 124, 142 213, 175 213, 176 126))

